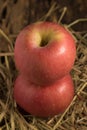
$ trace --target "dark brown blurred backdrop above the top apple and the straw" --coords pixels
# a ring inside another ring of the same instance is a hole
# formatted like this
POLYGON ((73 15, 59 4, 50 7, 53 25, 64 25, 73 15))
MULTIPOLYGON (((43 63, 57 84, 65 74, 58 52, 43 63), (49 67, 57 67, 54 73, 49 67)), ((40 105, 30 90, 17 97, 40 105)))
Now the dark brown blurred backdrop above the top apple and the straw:
MULTIPOLYGON (((0 27, 16 34, 21 28, 39 20, 69 24, 79 18, 87 18, 87 0, 0 0, 0 27)), ((87 23, 75 26, 78 30, 87 29, 87 23)))

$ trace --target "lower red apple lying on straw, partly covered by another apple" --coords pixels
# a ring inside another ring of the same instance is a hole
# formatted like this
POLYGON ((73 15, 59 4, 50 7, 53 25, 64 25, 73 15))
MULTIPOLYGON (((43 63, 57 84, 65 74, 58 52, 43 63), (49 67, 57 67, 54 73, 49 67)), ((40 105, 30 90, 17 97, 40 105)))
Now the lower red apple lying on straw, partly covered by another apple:
POLYGON ((14 99, 26 112, 38 117, 63 113, 74 96, 74 86, 68 74, 50 86, 36 86, 19 75, 14 84, 14 99))

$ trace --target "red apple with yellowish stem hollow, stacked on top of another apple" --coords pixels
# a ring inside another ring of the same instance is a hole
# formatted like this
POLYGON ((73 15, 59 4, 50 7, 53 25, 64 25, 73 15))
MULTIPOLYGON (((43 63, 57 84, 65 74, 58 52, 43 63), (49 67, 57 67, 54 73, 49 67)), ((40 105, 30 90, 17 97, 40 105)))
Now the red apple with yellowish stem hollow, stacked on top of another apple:
POLYGON ((45 86, 70 72, 76 47, 74 38, 64 27, 51 22, 38 22, 20 32, 14 53, 20 73, 29 76, 31 82, 45 86))

